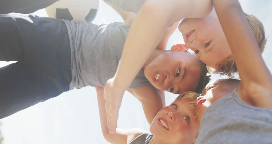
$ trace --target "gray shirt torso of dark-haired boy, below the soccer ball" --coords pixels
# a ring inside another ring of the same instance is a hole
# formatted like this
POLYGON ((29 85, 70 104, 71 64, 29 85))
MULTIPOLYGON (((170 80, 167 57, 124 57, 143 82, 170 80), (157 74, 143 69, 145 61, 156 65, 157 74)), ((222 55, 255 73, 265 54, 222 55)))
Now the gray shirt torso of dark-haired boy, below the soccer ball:
MULTIPOLYGON (((130 25, 119 22, 108 25, 64 22, 71 46, 72 82, 69 89, 96 85, 104 87, 107 80, 115 75, 130 25)), ((149 84, 144 71, 140 70, 129 88, 149 84)))

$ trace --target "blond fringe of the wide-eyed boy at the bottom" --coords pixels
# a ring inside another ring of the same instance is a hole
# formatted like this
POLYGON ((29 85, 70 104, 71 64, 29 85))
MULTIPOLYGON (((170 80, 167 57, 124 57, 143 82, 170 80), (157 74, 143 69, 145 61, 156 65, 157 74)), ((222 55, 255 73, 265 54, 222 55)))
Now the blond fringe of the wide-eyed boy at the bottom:
MULTIPOLYGON (((189 103, 188 107, 193 113, 194 118, 198 119, 196 113, 196 98, 199 96, 200 95, 197 94, 196 92, 187 91, 180 94, 175 100, 181 100, 182 102, 186 101, 187 103, 189 103)), ((191 138, 190 143, 195 143, 197 136, 198 133, 191 138)))

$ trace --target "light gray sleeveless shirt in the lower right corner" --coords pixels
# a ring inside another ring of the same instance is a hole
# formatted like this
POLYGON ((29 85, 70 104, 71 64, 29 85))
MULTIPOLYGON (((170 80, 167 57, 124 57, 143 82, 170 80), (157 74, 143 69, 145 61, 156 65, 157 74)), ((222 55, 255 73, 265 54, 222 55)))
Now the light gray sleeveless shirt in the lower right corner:
POLYGON ((196 144, 272 143, 272 109, 246 104, 236 90, 205 110, 196 144))

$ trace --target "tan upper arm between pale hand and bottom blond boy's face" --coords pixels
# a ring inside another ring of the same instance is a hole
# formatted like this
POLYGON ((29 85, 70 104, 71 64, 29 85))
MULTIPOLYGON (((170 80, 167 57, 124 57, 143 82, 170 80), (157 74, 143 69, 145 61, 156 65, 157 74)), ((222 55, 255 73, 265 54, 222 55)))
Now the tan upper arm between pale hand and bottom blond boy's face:
POLYGON ((162 97, 159 91, 152 85, 146 85, 140 88, 128 89, 128 92, 142 103, 144 114, 150 125, 159 110, 163 108, 162 97))

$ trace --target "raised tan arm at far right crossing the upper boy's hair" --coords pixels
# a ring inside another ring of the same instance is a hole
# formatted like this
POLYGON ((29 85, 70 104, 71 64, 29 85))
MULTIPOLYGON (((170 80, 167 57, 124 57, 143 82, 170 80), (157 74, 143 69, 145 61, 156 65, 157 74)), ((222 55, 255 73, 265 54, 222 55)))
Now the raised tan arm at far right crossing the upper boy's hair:
POLYGON ((254 106, 272 108, 272 76, 239 2, 213 2, 241 78, 239 96, 254 106))

